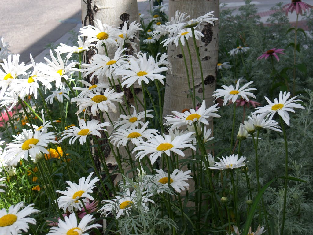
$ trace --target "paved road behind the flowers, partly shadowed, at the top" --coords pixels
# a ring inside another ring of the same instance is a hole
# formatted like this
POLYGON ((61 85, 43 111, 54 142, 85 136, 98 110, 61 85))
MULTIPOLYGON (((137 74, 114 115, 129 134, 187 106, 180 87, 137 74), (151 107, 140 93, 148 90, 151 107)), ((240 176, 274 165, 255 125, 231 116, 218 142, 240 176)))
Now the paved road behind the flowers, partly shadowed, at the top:
MULTIPOLYGON (((0 35, 11 45, 13 53, 20 53, 22 61, 29 61, 44 50, 49 43, 56 42, 62 35, 81 24, 81 0, 0 0, 0 35), (66 2, 66 5, 64 4, 66 2)), ((168 0, 163 0, 168 3, 168 0)), ((254 0, 259 12, 266 12, 276 3, 290 0, 254 0)), ((305 0, 313 5, 313 0, 305 0)), ((228 8, 244 5, 243 0, 220 0, 228 8)), ((139 12, 149 10, 145 0, 138 0, 139 12)), ((294 17, 295 18, 295 17, 294 17)), ((266 20, 262 18, 262 21, 266 20)), ((294 21, 291 17, 290 21, 294 21)), ((78 27, 79 29, 79 27, 78 27)))

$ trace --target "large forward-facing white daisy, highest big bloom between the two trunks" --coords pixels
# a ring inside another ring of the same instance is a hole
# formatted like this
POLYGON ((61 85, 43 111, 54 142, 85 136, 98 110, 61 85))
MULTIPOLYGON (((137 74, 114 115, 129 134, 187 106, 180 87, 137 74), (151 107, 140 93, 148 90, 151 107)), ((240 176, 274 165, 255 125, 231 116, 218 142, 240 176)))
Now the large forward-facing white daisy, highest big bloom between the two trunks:
POLYGON ((126 65, 128 69, 120 69, 116 71, 116 75, 123 75, 122 86, 126 86, 126 88, 130 87, 134 84, 137 80, 139 85, 141 85, 141 81, 143 80, 146 83, 149 83, 149 79, 151 81, 159 80, 163 85, 165 78, 164 75, 158 74, 163 71, 167 71, 167 67, 155 68, 155 60, 152 56, 149 56, 147 60, 147 53, 139 56, 138 60, 134 60, 130 58, 130 64, 126 65))

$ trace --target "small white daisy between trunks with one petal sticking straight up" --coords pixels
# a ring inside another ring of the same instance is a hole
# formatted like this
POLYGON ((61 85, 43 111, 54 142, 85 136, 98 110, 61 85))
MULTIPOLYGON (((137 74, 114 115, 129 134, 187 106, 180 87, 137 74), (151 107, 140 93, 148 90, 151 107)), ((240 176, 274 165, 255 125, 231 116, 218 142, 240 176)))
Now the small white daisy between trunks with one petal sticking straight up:
MULTIPOLYGON (((143 126, 145 123, 140 121, 141 119, 145 118, 145 112, 138 112, 136 113, 136 108, 131 105, 131 107, 134 109, 133 114, 131 115, 124 115, 121 114, 120 117, 117 119, 117 121, 114 123, 113 127, 120 129, 132 129, 138 127, 140 124, 143 126)), ((148 112, 152 112, 153 109, 146 110, 146 117, 147 118, 153 118, 154 116, 152 114, 148 114, 148 112)))

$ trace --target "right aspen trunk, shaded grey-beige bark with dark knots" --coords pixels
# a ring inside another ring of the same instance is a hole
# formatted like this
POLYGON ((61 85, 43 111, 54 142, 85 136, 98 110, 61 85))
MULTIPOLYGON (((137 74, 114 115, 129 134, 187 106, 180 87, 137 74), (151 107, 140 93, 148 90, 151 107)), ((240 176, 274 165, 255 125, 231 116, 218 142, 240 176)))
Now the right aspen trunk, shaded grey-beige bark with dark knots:
MULTIPOLYGON (((169 0, 169 19, 175 16, 176 11, 186 12, 192 18, 198 18, 210 11, 214 11, 215 18, 219 16, 219 0, 169 0)), ((212 24, 202 24, 200 29, 204 34, 201 40, 197 40, 199 47, 200 59, 203 68, 204 87, 202 88, 202 79, 200 74, 199 63, 194 48, 193 40, 188 40, 189 48, 192 55, 193 74, 195 79, 195 94, 202 100, 203 92, 205 92, 206 107, 213 105, 213 91, 216 85, 216 73, 218 63, 218 24, 219 21, 212 24)), ((187 67, 191 81, 191 67, 190 60, 186 45, 184 46, 184 53, 187 60, 187 67)), ((164 110, 163 115, 171 114, 172 111, 182 112, 184 109, 193 108, 192 99, 187 98, 189 94, 188 80, 186 76, 186 69, 183 60, 182 50, 180 46, 176 47, 175 44, 169 45, 167 48, 168 60, 172 64, 172 74, 167 72, 165 97, 164 97, 164 110)), ((192 88, 192 84, 191 84, 192 88)), ((198 101, 196 100, 196 105, 198 101)), ((209 120, 210 127, 212 128, 212 120, 209 120)), ((186 152, 186 156, 191 155, 186 152)), ((187 170, 183 167, 182 170, 187 170)), ((194 189, 194 185, 190 182, 190 191, 194 189)))

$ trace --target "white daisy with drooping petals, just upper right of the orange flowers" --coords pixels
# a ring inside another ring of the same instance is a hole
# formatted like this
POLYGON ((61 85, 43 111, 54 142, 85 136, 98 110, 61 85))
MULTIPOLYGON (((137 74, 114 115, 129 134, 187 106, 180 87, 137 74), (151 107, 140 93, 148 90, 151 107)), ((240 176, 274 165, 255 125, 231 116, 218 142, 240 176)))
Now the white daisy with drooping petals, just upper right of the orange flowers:
POLYGON ((63 134, 60 136, 59 142, 66 138, 69 138, 69 144, 74 144, 75 140, 79 138, 79 142, 81 145, 86 143, 86 139, 88 135, 96 135, 101 137, 101 133, 99 131, 106 131, 106 129, 102 127, 110 126, 110 123, 99 123, 98 120, 91 119, 85 123, 84 119, 78 118, 79 128, 78 127, 70 127, 67 130, 63 131, 63 134))

